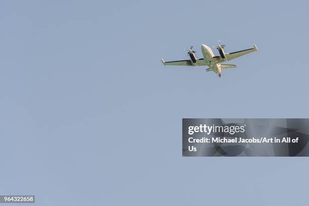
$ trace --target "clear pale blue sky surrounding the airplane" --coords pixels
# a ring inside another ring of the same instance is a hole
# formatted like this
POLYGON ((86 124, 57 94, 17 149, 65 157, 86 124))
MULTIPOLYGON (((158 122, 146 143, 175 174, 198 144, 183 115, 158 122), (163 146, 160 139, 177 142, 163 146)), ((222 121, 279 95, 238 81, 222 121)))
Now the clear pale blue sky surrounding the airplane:
MULTIPOLYGON (((0 194, 35 205, 307 203, 306 158, 183 158, 182 118, 309 117, 305 1, 1 1, 0 194), (251 48, 237 68, 163 66, 251 48)), ((13 204, 12 204, 13 205, 13 204)))

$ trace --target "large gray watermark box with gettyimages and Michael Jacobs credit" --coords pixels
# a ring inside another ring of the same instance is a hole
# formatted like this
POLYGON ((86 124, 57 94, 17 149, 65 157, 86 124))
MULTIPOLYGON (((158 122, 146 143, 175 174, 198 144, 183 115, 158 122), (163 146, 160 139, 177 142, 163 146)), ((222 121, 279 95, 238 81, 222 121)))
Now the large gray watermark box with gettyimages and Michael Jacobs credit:
POLYGON ((309 157, 307 118, 184 118, 183 157, 309 157))

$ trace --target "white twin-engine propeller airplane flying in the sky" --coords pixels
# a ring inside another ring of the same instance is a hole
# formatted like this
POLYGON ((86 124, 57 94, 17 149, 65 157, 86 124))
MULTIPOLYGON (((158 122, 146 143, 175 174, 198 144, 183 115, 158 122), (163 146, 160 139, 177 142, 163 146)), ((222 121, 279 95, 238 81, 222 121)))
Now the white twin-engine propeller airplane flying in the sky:
POLYGON ((221 45, 221 42, 219 40, 217 49, 219 51, 218 56, 214 55, 214 52, 212 49, 202 44, 201 45, 201 51, 204 58, 196 58, 195 57, 195 51, 192 50, 193 46, 188 49, 188 55, 190 56, 190 59, 188 60, 180 60, 180 61, 165 61, 163 58, 161 59, 162 63, 164 65, 177 65, 177 66, 209 66, 209 68, 206 69, 207 72, 215 72, 219 77, 221 77, 221 71, 225 68, 234 68, 237 67, 234 64, 221 64, 222 62, 232 60, 234 58, 237 58, 239 56, 251 53, 253 51, 259 51, 258 47, 256 47, 255 44, 253 44, 253 48, 245 49, 241 51, 236 51, 232 53, 225 53, 224 52, 225 45, 221 45))

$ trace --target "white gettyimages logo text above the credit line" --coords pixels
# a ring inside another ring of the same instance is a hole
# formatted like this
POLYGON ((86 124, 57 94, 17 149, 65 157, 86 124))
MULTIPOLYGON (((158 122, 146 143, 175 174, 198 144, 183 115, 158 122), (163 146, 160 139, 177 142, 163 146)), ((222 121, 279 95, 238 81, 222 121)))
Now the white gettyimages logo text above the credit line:
POLYGON ((188 134, 192 135, 194 133, 203 132, 206 134, 215 133, 215 132, 224 132, 229 134, 235 134, 235 133, 243 133, 245 131, 245 124, 242 126, 239 125, 221 125, 216 126, 213 125, 206 125, 206 124, 200 124, 199 126, 188 126, 188 134))

